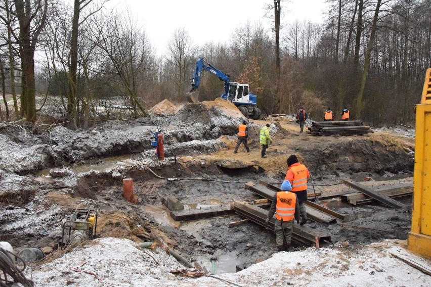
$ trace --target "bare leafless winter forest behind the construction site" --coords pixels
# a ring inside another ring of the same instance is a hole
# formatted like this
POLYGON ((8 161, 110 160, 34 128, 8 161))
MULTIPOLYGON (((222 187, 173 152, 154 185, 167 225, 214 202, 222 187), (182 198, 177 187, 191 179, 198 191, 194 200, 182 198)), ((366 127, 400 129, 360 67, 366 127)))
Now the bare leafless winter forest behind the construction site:
MULTIPOLYGON (((178 27, 158 56, 138 21, 105 1, 0 0, 1 120, 88 128, 110 117, 100 106, 114 97, 128 99, 134 118, 147 116, 164 99, 186 102, 202 57, 231 81, 248 83, 264 114, 304 106, 322 120, 331 107, 338 119, 347 107, 372 126, 413 125, 431 67, 430 1, 327 2, 323 24, 283 24, 289 2, 268 1, 262 15, 272 17, 273 29, 230 27, 226 43, 195 45, 199 35, 178 27), (44 107, 56 112, 41 116, 44 107)), ((203 72, 199 99, 222 93, 223 82, 203 72)))

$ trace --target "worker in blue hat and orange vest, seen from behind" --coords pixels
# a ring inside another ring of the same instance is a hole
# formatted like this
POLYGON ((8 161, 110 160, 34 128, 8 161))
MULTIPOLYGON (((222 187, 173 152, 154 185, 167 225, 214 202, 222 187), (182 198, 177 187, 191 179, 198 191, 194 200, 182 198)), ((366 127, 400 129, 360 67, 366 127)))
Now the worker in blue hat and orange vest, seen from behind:
POLYGON ((290 243, 293 229, 293 220, 296 220, 296 223, 299 222, 298 197, 295 193, 290 192, 292 186, 288 180, 285 180, 283 184, 281 184, 280 189, 281 192, 274 194, 265 223, 268 224, 275 213, 274 232, 276 236, 275 244, 277 246, 277 250, 279 252, 283 251, 283 242, 285 240, 287 248, 285 251, 292 251, 293 249, 291 248, 290 243))

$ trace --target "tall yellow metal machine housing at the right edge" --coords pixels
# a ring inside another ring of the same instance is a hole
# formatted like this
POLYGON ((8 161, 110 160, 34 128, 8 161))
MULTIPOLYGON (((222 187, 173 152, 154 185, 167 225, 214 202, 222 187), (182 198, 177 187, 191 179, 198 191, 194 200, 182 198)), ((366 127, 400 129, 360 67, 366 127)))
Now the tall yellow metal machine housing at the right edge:
POLYGON ((426 70, 422 98, 416 105, 412 230, 408 248, 431 257, 431 69, 426 70))

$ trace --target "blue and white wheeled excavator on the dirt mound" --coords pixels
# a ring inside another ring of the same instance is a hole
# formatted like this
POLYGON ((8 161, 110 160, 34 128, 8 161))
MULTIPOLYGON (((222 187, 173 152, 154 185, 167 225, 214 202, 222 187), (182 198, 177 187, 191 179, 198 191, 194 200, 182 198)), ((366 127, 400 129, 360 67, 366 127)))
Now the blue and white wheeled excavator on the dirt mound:
POLYGON ((261 118, 261 110, 256 108, 256 95, 250 92, 248 84, 231 82, 229 80, 229 75, 224 74, 202 58, 196 62, 193 72, 192 89, 187 93, 187 98, 190 103, 199 102, 198 93, 196 93, 196 91, 199 88, 202 70, 206 70, 218 76, 221 81, 224 81, 225 92, 221 95, 222 99, 232 102, 238 107, 238 110, 249 119, 258 120, 261 118))

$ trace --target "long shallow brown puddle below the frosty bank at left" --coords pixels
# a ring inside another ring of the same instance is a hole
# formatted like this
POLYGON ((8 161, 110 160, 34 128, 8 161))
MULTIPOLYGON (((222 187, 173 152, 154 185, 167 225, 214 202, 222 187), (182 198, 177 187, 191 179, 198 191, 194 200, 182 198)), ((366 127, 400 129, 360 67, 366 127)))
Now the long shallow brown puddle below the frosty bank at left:
MULTIPOLYGON (((117 157, 111 157, 111 158, 103 158, 103 161, 101 163, 82 164, 82 165, 65 166, 65 167, 73 170, 73 172, 77 174, 77 173, 88 172, 90 170, 104 170, 104 169, 116 168, 118 166, 132 166, 135 164, 135 162, 133 160, 130 160, 130 158, 131 158, 131 155, 117 156, 117 157)), ((49 175, 51 169, 53 168, 42 169, 36 173, 36 176, 49 175)))

